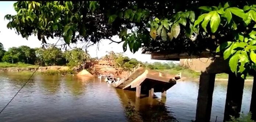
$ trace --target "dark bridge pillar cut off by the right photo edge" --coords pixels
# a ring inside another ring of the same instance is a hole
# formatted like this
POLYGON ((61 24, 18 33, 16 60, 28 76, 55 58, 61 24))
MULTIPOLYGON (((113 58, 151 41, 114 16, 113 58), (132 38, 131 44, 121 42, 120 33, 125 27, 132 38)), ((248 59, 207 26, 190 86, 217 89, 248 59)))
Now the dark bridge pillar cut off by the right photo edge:
POLYGON ((256 121, 256 75, 253 79, 253 87, 252 87, 252 100, 250 104, 250 112, 252 113, 252 119, 256 121))

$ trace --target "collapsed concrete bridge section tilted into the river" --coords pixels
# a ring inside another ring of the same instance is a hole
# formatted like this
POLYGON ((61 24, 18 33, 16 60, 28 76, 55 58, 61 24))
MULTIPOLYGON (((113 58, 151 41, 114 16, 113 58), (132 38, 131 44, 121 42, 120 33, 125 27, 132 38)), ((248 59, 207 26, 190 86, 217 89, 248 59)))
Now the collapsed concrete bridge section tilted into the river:
POLYGON ((146 70, 138 65, 127 76, 112 85, 116 88, 136 91, 136 97, 147 94, 153 98, 154 92, 161 92, 162 97, 166 97, 166 91, 175 84, 175 77, 163 77, 159 72, 146 70))

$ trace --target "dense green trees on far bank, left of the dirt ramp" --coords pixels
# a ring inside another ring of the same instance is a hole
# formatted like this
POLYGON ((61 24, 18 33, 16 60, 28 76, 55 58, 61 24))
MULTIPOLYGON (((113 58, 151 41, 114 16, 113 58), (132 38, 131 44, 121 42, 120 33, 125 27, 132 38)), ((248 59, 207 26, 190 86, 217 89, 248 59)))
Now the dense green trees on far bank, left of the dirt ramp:
POLYGON ((72 50, 61 51, 57 47, 49 48, 30 48, 28 46, 11 47, 7 51, 4 50, 2 43, 0 43, 0 61, 10 64, 2 63, 2 67, 22 67, 31 65, 54 66, 54 65, 68 65, 78 66, 90 59, 87 52, 80 48, 72 50), (15 63, 18 63, 19 66, 15 63), (23 63, 23 64, 22 64, 23 63))

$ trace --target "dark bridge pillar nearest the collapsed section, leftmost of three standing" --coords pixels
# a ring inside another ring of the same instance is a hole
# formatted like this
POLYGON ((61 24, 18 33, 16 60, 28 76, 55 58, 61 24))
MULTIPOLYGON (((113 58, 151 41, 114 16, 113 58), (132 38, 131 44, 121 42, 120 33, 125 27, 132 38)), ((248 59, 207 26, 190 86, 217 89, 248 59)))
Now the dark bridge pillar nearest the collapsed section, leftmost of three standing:
POLYGON ((210 121, 214 82, 215 74, 201 73, 196 107, 196 122, 210 121))

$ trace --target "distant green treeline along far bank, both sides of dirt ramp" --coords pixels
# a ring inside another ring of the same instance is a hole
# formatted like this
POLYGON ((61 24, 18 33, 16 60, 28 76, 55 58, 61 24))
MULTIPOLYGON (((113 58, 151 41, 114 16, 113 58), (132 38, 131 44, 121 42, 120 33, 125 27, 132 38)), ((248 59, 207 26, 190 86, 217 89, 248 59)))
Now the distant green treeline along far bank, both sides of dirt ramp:
MULTIPOLYGON (((131 70, 138 64, 149 69, 172 69, 177 67, 177 64, 174 64, 173 62, 143 63, 135 58, 125 56, 124 53, 114 53, 113 51, 109 52, 101 59, 114 60, 114 65, 116 67, 124 68, 125 70, 131 70)), ((8 62, 12 64, 21 62, 24 64, 41 66, 78 66, 84 64, 88 60, 92 61, 94 59, 90 58, 89 54, 81 48, 74 48, 63 52, 61 49, 53 46, 46 49, 19 46, 11 47, 6 51, 4 50, 2 43, 0 43, 0 62, 8 62)))

